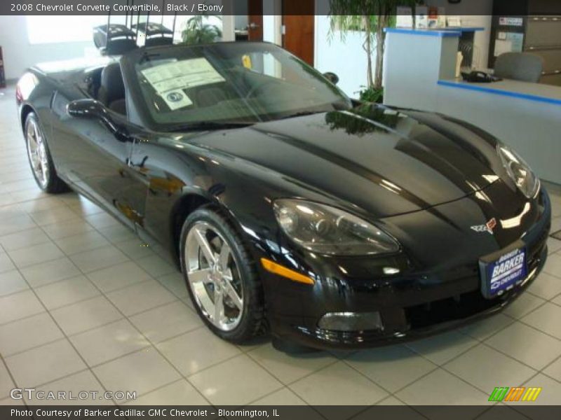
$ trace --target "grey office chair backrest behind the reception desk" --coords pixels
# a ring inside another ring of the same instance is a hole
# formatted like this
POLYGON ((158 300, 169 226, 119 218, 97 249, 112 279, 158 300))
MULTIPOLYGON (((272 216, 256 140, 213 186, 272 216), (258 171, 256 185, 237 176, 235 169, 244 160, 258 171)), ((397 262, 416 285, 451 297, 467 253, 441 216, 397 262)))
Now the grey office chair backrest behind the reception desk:
POLYGON ((529 52, 505 52, 496 57, 494 75, 500 78, 538 83, 543 71, 543 58, 529 52))

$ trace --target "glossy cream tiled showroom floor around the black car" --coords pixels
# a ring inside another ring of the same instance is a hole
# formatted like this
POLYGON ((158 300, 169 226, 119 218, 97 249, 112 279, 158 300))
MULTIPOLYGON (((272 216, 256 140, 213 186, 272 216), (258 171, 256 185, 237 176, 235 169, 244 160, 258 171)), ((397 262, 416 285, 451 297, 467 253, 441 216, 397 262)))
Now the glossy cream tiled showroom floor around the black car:
MULTIPOLYGON (((18 386, 136 391, 137 404, 484 405, 520 384, 561 402, 561 241, 528 293, 462 330, 349 353, 234 346, 203 327, 175 267, 83 198, 36 188, 4 92, 0 403, 18 386)), ((561 230, 561 187, 548 188, 561 230)))

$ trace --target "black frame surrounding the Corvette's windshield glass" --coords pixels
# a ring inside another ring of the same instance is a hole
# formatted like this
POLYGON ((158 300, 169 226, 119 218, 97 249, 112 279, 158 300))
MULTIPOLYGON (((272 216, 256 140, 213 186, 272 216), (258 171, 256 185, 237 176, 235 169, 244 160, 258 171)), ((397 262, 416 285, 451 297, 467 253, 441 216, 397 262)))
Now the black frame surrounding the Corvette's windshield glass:
MULTIPOLYGON (((282 52, 284 52, 285 54, 290 54, 290 52, 284 50, 283 48, 280 48, 278 45, 273 44, 273 43, 268 43, 268 42, 262 42, 262 41, 243 41, 243 43, 245 45, 252 45, 252 48, 255 48, 256 46, 262 46, 263 50, 281 50, 282 52)), ((136 123, 136 124, 140 124, 143 127, 147 127, 149 130, 155 131, 155 132, 172 132, 174 130, 177 130, 177 123, 172 124, 172 123, 160 123, 158 121, 156 121, 152 116, 151 116, 151 111, 148 108, 148 105, 146 103, 146 99, 144 97, 144 94, 142 92, 142 87, 140 86, 140 82, 137 76, 137 69, 136 69, 136 64, 139 63, 140 61, 142 61, 143 59, 146 59, 145 57, 149 56, 149 55, 162 55, 164 57, 180 57, 181 53, 180 51, 185 50, 185 49, 191 49, 191 48, 228 48, 228 45, 237 45, 239 46, 241 44, 240 41, 229 41, 229 42, 219 42, 219 43, 210 43, 210 44, 198 44, 198 45, 164 45, 164 46, 157 46, 157 47, 150 47, 150 48, 138 48, 136 50, 130 51, 128 52, 126 55, 123 55, 121 57, 121 69, 123 71, 123 79, 125 81, 126 87, 127 87, 127 95, 126 95, 126 100, 127 102, 132 102, 129 106, 129 104, 127 104, 128 109, 130 109, 131 111, 134 110, 134 113, 130 114, 130 118, 131 118, 131 122, 136 123), (177 54, 174 55, 174 51, 177 50, 177 54), (139 119, 138 121, 132 121, 133 118, 137 118, 139 119), (175 128, 174 128, 175 127, 175 128)), ((327 78, 325 78, 325 76, 323 76, 322 73, 320 73, 319 71, 317 71, 316 69, 314 69, 312 66, 310 66, 309 64, 303 62, 301 59, 295 57, 294 55, 291 55, 292 57, 294 57, 295 59, 297 59, 297 61, 299 62, 299 64, 302 64, 303 66, 306 66, 306 71, 313 74, 313 76, 316 76, 316 78, 325 83, 327 87, 330 88, 330 90, 332 90, 335 94, 339 95, 339 97, 341 97, 342 102, 345 102, 346 104, 348 104, 349 108, 352 107, 352 101, 351 99, 349 99, 349 97, 346 96, 346 94, 344 94, 344 92, 342 92, 342 90, 339 89, 339 87, 333 85, 329 80, 327 80, 327 78)), ((310 109, 308 109, 309 111, 313 111, 313 107, 311 107, 310 109)), ((306 109, 300 109, 300 110, 294 110, 294 111, 308 111, 306 109)), ((286 116, 280 116, 278 119, 282 119, 282 118, 286 118, 286 116)), ((221 123, 224 122, 226 124, 228 124, 228 121, 224 121, 224 120, 212 120, 212 119, 205 119, 205 120, 197 120, 197 121, 186 121, 185 125, 189 125, 189 124, 194 124, 196 125, 197 123, 205 123, 205 122, 213 122, 215 121, 216 123, 221 123)), ((251 123, 257 123, 258 121, 254 121, 251 123)), ((248 123, 250 124, 250 123, 248 123)), ((207 129, 209 130, 209 129, 207 129)), ((212 130, 212 129, 210 129, 212 130)), ((217 127, 215 130, 219 130, 219 128, 217 127)))

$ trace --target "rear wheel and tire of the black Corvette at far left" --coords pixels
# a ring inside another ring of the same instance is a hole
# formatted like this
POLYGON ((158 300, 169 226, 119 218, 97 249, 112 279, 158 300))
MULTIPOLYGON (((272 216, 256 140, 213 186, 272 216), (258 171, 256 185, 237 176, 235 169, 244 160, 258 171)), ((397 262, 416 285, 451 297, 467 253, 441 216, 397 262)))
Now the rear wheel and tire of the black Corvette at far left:
POLYGON ((39 188, 51 194, 67 191, 68 186, 57 176, 53 158, 48 150, 47 139, 41 130, 39 118, 33 112, 29 113, 25 119, 24 134, 29 166, 39 188))

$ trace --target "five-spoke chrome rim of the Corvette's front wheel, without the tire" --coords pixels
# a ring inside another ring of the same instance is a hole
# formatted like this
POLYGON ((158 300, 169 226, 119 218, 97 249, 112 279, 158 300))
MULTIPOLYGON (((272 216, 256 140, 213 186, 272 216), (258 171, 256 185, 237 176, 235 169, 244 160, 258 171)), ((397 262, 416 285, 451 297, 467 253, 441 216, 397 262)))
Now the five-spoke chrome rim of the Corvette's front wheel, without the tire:
POLYGON ((231 248, 209 223, 194 223, 185 240, 189 287, 203 315, 222 331, 231 331, 243 315, 243 285, 231 248))

